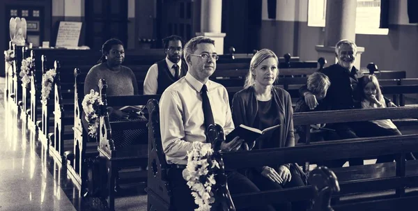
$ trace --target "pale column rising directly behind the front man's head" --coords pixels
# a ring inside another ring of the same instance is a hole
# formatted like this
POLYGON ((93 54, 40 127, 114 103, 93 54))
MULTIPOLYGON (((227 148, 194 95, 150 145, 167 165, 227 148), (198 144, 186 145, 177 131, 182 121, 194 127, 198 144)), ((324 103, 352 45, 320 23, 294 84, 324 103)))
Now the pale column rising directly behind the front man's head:
POLYGON ((201 0, 201 32, 196 36, 206 36, 215 40, 217 54, 224 54, 222 26, 222 0, 201 0))

